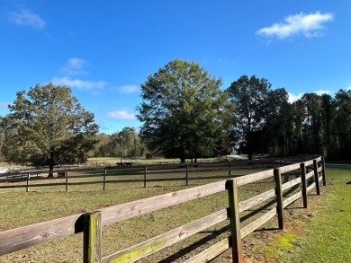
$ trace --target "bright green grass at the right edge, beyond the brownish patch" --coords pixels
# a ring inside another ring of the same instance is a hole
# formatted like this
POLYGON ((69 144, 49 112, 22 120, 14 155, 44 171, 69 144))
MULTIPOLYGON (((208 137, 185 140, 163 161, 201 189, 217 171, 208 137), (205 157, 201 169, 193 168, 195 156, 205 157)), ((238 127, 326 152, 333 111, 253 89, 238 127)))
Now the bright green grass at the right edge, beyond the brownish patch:
POLYGON ((350 262, 351 168, 327 169, 329 191, 314 207, 308 230, 297 239, 280 262, 350 262))

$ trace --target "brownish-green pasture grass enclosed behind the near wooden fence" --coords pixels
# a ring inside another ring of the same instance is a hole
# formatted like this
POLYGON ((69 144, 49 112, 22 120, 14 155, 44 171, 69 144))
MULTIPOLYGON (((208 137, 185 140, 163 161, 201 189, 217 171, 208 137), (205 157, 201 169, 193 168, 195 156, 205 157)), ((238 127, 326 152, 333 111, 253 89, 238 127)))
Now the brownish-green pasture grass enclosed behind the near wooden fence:
MULTIPOLYGON (((262 170, 262 168, 260 169, 262 170)), ((252 170, 239 170, 238 174, 252 173, 252 170)), ((330 172, 330 171, 329 171, 330 172)), ((213 174, 213 173, 211 173, 213 174)), ((292 173, 286 177, 294 177, 292 173)), ((31 192, 25 193, 23 189, 2 189, 4 213, 0 219, 1 231, 13 229, 23 225, 48 221, 58 217, 96 210, 106 206, 130 202, 144 197, 160 195, 162 193, 175 191, 181 188, 189 188, 204 184, 211 180, 193 180, 189 186, 180 184, 179 181, 155 182, 143 188, 130 184, 111 184, 109 188, 102 191, 101 185, 75 186, 75 190, 65 192, 62 188, 35 188, 31 186, 31 192), (112 188, 113 185, 113 188, 112 188)), ((274 182, 264 180, 239 189, 240 199, 252 197, 256 193, 271 188, 274 182)), ((73 187, 72 187, 73 188, 73 187)), ((295 203, 294 203, 295 204, 295 203)), ((296 203, 298 204, 298 203, 296 203)), ((103 254, 109 254, 115 250, 122 250, 139 241, 147 240, 158 233, 166 232, 177 226, 183 225, 189 220, 196 220, 213 211, 228 206, 226 193, 219 193, 209 197, 202 197, 189 203, 171 206, 148 215, 123 221, 118 224, 108 225, 103 229, 103 254), (132 239, 130 238, 132 236, 132 239)), ((293 205, 295 206, 295 205, 293 205)), ((269 209, 269 207, 265 207, 269 209)), ((298 209, 301 210, 301 209, 298 209)), ((305 213, 301 210, 302 214, 305 213)), ((249 214, 249 212, 247 212, 249 214)), ((245 217, 245 215, 244 215, 245 217)), ((252 219, 250 219, 252 220, 252 219)), ((289 221, 289 216, 287 216, 289 221)), ((246 223, 248 224, 249 221, 246 223)), ((265 225, 266 228, 276 228, 275 222, 265 225)), ((200 232, 185 241, 175 244, 166 250, 161 250, 148 257, 144 262, 182 262, 194 253, 204 250, 207 246, 220 239, 220 236, 228 235, 228 222, 216 225, 200 232), (196 245, 193 245, 196 244, 196 245)), ((246 257, 252 257, 253 249, 256 247, 257 233, 247 236, 244 240, 244 253, 246 257), (247 250, 247 244, 249 250, 247 250), (254 244, 254 245, 252 245, 254 244)), ((258 241, 259 243, 259 241, 258 241)), ((46 244, 20 250, 0 258, 1 262, 81 262, 82 235, 76 234, 64 240, 52 241, 46 244)), ((258 246, 259 247, 259 246, 258 246)), ((224 254, 221 259, 229 260, 229 254, 224 254)))

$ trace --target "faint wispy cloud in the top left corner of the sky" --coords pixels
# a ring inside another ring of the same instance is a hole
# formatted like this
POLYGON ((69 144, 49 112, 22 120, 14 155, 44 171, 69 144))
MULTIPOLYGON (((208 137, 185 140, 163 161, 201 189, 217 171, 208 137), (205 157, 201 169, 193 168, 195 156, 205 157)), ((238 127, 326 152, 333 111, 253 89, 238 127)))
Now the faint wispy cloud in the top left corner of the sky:
POLYGON ((31 26, 37 30, 42 30, 46 22, 40 17, 39 14, 33 13, 29 9, 22 9, 18 12, 10 12, 9 20, 14 24, 21 26, 31 26))

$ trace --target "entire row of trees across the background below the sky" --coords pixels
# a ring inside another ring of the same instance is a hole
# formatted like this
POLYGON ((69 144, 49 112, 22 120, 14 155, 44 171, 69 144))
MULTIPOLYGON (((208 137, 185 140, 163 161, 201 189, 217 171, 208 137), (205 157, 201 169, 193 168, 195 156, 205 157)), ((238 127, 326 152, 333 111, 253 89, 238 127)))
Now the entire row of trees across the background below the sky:
POLYGON ((245 153, 351 157, 351 92, 305 93, 289 102, 284 88, 242 75, 228 88, 195 62, 170 61, 141 84, 139 130, 99 133, 67 86, 17 92, 0 117, 0 158, 34 166, 86 162, 87 157, 137 157, 147 151, 185 159, 245 153))

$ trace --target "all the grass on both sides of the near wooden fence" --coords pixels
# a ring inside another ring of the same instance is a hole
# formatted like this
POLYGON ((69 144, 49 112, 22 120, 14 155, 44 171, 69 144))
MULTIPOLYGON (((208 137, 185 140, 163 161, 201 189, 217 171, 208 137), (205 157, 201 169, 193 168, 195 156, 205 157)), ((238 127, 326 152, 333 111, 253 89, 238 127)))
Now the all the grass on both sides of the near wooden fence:
MULTIPOLYGON (((238 171, 238 174, 243 172, 238 171)), ((246 261, 347 262, 343 260, 351 256, 350 250, 347 250, 347 247, 351 246, 349 231, 351 185, 346 184, 351 180, 350 172, 350 168, 328 168, 328 187, 321 188, 320 197, 311 192, 308 209, 301 208, 302 202, 299 200, 285 210, 284 232, 276 230, 277 223, 274 219, 265 225, 266 230, 247 236, 244 240, 246 261), (321 247, 317 246, 317 243, 321 247)), ((189 187, 205 182, 207 181, 193 181, 189 187)), ((252 197, 266 188, 271 188, 272 185, 272 180, 266 180, 240 188, 240 198, 252 197)), ((148 188, 142 188, 140 185, 123 188, 111 185, 104 192, 101 186, 84 187, 72 187, 76 188, 76 191, 68 193, 64 192, 64 189, 57 188, 54 191, 49 188, 47 190, 32 188, 29 193, 23 192, 23 189, 0 191, 3 207, 0 215, 0 231, 186 188, 179 182, 153 183, 148 188)), ((209 215, 226 207, 227 204, 227 193, 223 192, 119 224, 111 224, 103 230, 103 255, 209 215)), ((182 262, 228 234, 228 222, 216 225, 148 257, 143 262, 182 262)), ((66 239, 4 255, 0 257, 0 262, 81 262, 81 256, 82 235, 76 234, 66 239)), ((224 253, 214 261, 230 262, 230 253, 224 253)))

